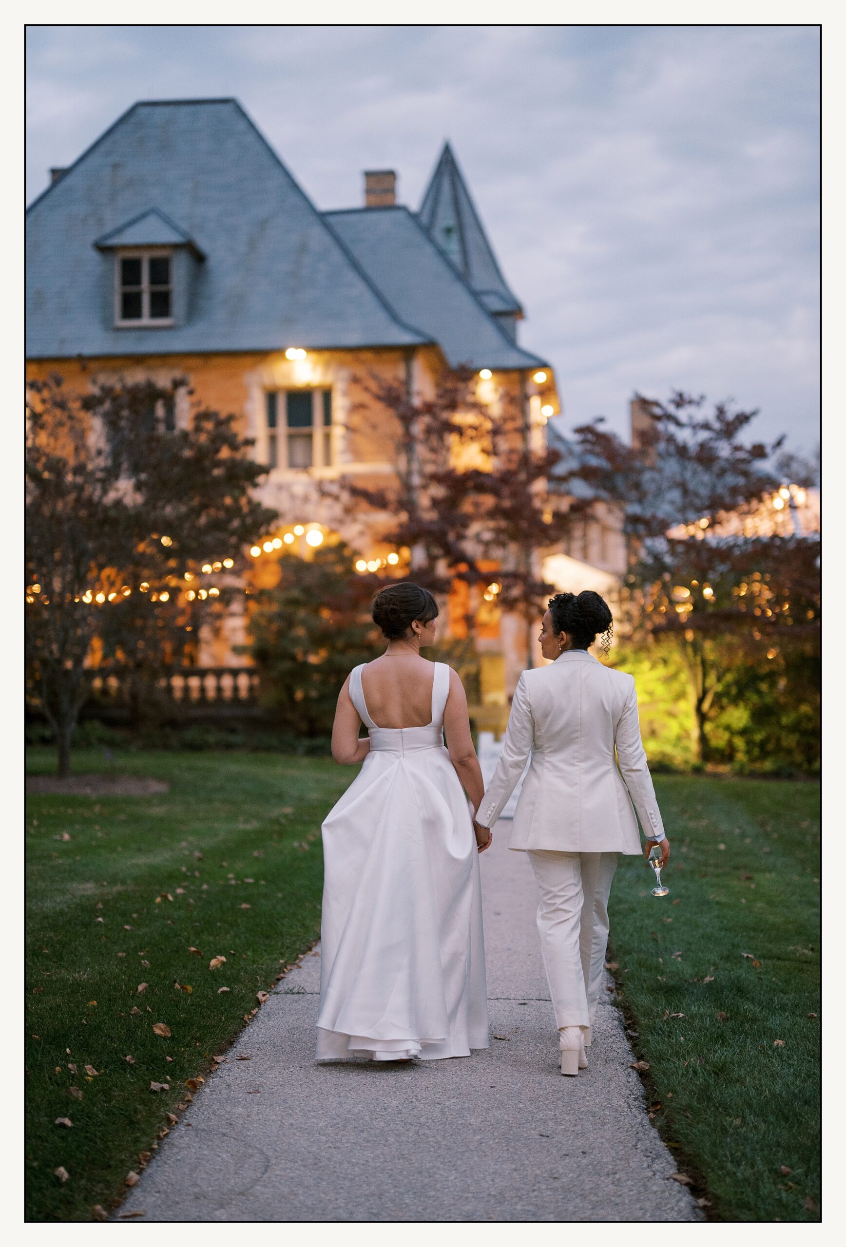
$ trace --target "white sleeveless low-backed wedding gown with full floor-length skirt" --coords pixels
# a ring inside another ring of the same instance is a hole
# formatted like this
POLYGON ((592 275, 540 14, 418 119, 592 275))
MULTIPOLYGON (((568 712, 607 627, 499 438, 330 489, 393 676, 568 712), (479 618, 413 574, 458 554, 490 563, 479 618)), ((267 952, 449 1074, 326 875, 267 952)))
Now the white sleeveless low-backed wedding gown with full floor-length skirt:
POLYGON ((479 854, 443 743, 448 695, 437 662, 432 722, 377 727, 362 667, 349 677, 371 752, 323 823, 318 1061, 488 1047, 479 854))

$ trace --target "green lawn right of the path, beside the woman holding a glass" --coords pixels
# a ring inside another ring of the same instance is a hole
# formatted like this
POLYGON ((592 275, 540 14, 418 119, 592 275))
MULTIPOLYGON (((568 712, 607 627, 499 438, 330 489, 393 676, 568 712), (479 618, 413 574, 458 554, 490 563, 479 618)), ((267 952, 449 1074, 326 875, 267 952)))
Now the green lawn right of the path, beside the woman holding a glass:
POLYGON ((656 788, 670 894, 651 897, 651 872, 621 858, 609 948, 654 1120, 710 1215, 817 1221, 819 786, 656 788))

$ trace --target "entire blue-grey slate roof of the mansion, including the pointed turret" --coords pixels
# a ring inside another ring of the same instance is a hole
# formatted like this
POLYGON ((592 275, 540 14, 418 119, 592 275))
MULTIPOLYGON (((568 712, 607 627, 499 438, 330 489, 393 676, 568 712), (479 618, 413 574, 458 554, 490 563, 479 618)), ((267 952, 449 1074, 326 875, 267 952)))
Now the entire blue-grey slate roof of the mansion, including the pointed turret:
POLYGON ((236 100, 147 101, 119 117, 30 206, 26 284, 35 359, 432 342, 452 365, 548 367, 492 314, 519 304, 448 146, 421 218, 321 213, 236 100), (435 244, 450 203, 460 263, 435 244), (115 328, 122 246, 192 256, 172 327, 115 328))

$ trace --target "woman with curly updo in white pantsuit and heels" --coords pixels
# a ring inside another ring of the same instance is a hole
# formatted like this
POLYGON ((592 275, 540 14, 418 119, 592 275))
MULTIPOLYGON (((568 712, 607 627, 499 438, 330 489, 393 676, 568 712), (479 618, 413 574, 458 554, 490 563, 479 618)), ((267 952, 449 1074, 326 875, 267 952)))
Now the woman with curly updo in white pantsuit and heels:
POLYGON ((608 897, 620 853, 670 857, 640 741, 634 677, 604 667, 588 647, 610 637, 611 612, 590 591, 550 599, 540 631, 549 666, 524 671, 502 754, 477 812, 492 828, 532 758, 510 848, 538 880, 538 930, 555 1008, 562 1074, 586 1067, 608 945, 608 897), (616 757, 615 757, 616 753, 616 757), (618 769, 619 763, 619 769, 618 769), (634 803, 634 808, 633 808, 634 803))

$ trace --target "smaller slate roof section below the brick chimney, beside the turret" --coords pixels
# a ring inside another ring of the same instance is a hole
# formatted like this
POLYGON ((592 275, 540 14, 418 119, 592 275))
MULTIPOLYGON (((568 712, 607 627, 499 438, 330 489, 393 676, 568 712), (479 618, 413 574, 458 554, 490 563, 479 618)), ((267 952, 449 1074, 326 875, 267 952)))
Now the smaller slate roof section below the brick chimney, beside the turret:
POLYGON ((509 338, 408 208, 324 216, 398 315, 437 342, 453 368, 549 367, 509 338))

